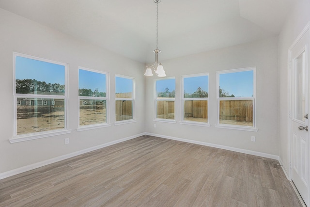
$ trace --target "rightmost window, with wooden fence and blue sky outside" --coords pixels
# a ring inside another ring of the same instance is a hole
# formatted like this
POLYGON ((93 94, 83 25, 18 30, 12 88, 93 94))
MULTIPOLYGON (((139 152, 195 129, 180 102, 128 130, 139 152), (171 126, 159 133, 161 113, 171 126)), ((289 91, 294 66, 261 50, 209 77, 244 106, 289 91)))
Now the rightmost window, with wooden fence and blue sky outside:
POLYGON ((255 68, 217 72, 217 126, 255 129, 255 68))

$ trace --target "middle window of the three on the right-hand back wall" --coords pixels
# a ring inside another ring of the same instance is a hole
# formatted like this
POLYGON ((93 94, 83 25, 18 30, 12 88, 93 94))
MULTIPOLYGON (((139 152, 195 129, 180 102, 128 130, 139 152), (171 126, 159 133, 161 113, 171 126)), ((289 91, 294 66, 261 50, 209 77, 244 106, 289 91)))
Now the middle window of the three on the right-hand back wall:
MULTIPOLYGON (((182 124, 208 124, 209 76, 182 76, 182 124)), ((209 125, 208 125, 209 126, 209 125)))

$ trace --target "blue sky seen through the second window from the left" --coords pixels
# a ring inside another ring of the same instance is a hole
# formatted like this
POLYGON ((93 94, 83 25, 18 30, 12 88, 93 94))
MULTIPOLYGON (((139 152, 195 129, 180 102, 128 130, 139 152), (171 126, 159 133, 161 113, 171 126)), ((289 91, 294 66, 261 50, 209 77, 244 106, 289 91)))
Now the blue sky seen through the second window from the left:
POLYGON ((107 92, 106 74, 96 73, 89 70, 78 70, 78 88, 92 89, 98 88, 98 92, 107 92))

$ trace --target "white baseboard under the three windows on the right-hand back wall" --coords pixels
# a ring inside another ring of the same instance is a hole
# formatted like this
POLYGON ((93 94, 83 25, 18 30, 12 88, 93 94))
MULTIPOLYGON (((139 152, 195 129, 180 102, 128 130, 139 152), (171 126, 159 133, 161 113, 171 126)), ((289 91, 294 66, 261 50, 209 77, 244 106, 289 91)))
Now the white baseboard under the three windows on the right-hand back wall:
POLYGON ((148 133, 148 132, 145 132, 145 135, 161 137, 161 138, 165 138, 165 139, 176 140, 176 141, 181 141, 181 142, 186 142, 186 143, 194 143, 194 144, 200 144, 200 145, 204 145, 204 146, 211 146, 211 147, 215 147, 215 148, 219 148, 219 149, 226 149, 226 150, 230 150, 230 151, 234 151, 234 152, 240 152, 240 153, 244 153, 244 154, 248 154, 248 155, 255 155, 255 156, 260 156, 263 158, 270 158, 270 159, 279 160, 278 155, 271 155, 271 154, 251 151, 251 150, 247 150, 247 149, 240 149, 240 148, 224 146, 224 145, 219 145, 219 144, 213 144, 213 143, 204 143, 204 142, 200 142, 200 141, 187 140, 187 139, 171 137, 171 136, 166 136, 166 135, 161 135, 161 134, 148 133))

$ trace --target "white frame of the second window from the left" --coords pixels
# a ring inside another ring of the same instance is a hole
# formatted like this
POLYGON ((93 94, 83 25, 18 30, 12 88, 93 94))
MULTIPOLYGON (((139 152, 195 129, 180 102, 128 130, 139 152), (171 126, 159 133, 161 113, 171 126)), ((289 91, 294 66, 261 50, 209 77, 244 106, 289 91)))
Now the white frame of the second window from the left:
MULTIPOLYGON (((78 67, 78 74, 79 69, 81 70, 87 70, 93 73, 100 73, 106 75, 106 97, 95 97, 95 96, 78 96, 78 128, 77 131, 85 131, 85 130, 91 130, 94 128, 102 128, 102 127, 109 127, 111 126, 109 122, 109 73, 104 71, 98 71, 93 70, 87 67, 78 67), (106 123, 98 123, 98 124, 90 124, 90 125, 83 125, 80 126, 79 124, 79 116, 80 116, 80 100, 81 99, 89 99, 89 100, 105 100, 106 101, 106 123)), ((79 75, 78 75, 78 83, 79 83, 79 75)), ((78 84, 79 85, 79 84, 78 84)), ((79 86, 78 86, 79 89, 79 86)))

